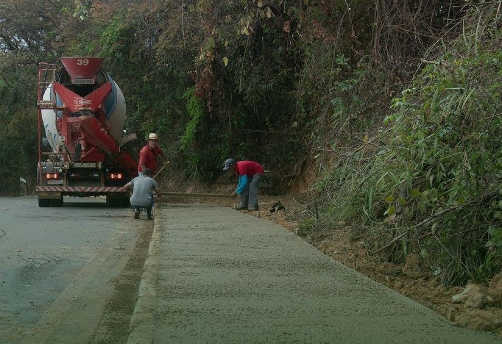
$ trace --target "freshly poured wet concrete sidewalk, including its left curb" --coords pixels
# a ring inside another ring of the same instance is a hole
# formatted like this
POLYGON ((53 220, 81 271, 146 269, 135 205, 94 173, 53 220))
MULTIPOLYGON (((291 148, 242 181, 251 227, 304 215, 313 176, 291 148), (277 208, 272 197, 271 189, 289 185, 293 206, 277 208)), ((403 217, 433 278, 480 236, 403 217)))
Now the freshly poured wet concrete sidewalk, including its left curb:
POLYGON ((152 240, 130 343, 501 341, 229 208, 160 208, 152 240))

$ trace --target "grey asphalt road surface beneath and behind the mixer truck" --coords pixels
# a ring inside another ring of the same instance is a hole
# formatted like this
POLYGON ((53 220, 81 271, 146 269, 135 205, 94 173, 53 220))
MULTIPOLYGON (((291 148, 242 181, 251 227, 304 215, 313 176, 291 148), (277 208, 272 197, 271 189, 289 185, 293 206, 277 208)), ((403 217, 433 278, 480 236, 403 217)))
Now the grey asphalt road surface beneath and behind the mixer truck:
MULTIPOLYGON (((142 229, 131 218, 130 210, 107 208, 99 198, 65 198, 61 208, 39 208, 33 197, 0 198, 0 342, 51 341, 58 326, 65 331, 62 319, 84 289, 96 305, 87 314, 96 327, 108 282, 142 229)), ((80 329, 92 335, 93 328, 80 329)))

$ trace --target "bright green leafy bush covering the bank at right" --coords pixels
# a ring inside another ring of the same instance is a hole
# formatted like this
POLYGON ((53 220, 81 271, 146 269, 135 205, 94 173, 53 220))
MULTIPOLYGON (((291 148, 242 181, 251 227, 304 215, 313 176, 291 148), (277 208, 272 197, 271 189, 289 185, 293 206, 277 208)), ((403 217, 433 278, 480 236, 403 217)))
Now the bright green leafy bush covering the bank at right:
POLYGON ((418 252, 445 284, 486 282, 502 262, 500 19, 488 5, 462 24, 394 98, 371 142, 318 185, 332 194, 331 217, 376 229, 372 250, 391 243, 401 261, 418 252))

